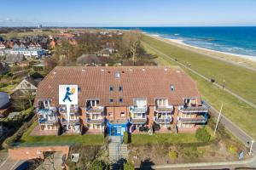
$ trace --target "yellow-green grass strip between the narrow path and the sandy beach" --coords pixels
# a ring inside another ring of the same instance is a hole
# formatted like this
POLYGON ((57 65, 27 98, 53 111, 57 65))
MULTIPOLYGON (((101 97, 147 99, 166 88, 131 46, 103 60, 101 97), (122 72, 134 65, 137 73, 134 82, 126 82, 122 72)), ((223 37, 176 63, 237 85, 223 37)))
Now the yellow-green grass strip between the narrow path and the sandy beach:
POLYGON ((203 54, 196 54, 187 49, 177 48, 177 46, 161 42, 152 37, 144 36, 143 42, 147 42, 164 54, 175 56, 184 65, 191 64, 193 70, 198 71, 205 77, 214 78, 219 84, 222 84, 225 80, 226 88, 256 104, 255 71, 212 59, 203 54))

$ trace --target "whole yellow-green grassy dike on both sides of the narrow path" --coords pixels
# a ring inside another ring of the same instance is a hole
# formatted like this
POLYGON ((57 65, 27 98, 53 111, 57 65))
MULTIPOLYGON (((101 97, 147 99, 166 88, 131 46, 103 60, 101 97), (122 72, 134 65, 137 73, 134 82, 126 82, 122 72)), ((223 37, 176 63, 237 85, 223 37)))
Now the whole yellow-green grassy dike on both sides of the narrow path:
MULTIPOLYGON (((178 48, 174 45, 167 44, 166 42, 161 42, 152 37, 144 36, 143 42, 146 42, 143 43, 143 47, 149 54, 156 54, 158 56, 157 62, 160 65, 177 65, 177 63, 166 56, 159 54, 157 51, 154 51, 154 49, 148 47, 148 44, 164 54, 175 56, 175 58, 178 59, 179 62, 183 62, 183 64, 189 62, 192 65, 192 69, 195 69, 195 71, 198 71, 207 77, 214 76, 218 82, 222 82, 223 78, 225 78, 227 88, 230 88, 233 92, 240 94, 242 97, 255 103, 255 72, 236 65, 226 64, 223 61, 212 59, 202 54, 189 52, 188 50, 178 48), (234 72, 232 73, 232 71, 234 72)), ((231 94, 212 85, 211 82, 196 76, 191 71, 185 68, 183 68, 183 70, 197 82, 203 99, 206 99, 207 102, 216 109, 219 109, 221 103, 223 103, 223 114, 256 139, 255 109, 244 102, 241 102, 241 100, 236 99, 231 94)))

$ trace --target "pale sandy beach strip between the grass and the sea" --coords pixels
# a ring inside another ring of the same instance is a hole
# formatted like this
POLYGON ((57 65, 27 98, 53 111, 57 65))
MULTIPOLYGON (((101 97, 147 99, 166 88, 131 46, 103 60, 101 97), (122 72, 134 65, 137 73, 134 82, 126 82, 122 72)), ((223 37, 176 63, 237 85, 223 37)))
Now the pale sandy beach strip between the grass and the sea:
POLYGON ((191 46, 189 44, 184 43, 183 40, 164 38, 164 37, 160 37, 159 35, 149 35, 149 34, 147 35, 150 37, 157 38, 160 41, 170 43, 177 47, 188 49, 198 54, 205 54, 209 57, 224 60, 235 65, 241 65, 243 67, 247 67, 248 69, 256 71, 256 57, 253 57, 253 56, 219 52, 212 49, 191 46))

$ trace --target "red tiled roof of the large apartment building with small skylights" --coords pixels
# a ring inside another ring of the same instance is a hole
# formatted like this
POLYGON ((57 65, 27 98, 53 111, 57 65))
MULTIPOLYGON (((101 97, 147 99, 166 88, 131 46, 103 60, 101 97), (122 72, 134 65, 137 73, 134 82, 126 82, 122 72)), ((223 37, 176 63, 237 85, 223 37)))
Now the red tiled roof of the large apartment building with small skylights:
POLYGON ((60 84, 79 85, 79 106, 84 106, 86 99, 100 99, 104 106, 127 106, 133 105, 134 98, 148 99, 148 105, 154 105, 156 98, 168 98, 169 105, 183 105, 183 98, 200 97, 195 82, 177 67, 58 66, 38 84, 35 106, 38 99, 52 99, 52 104, 58 105, 60 84), (114 77, 115 72, 120 78, 114 77), (119 92, 119 86, 123 92, 119 92), (120 97, 123 103, 119 103, 120 97), (113 98, 113 104, 109 104, 109 98, 113 98))

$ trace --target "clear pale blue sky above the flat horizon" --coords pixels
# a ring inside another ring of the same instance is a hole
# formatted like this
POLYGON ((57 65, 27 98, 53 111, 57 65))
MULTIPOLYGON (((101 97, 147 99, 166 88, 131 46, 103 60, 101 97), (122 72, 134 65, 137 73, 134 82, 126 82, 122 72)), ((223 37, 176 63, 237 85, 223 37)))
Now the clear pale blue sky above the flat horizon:
POLYGON ((256 26, 256 0, 3 0, 0 26, 256 26))

